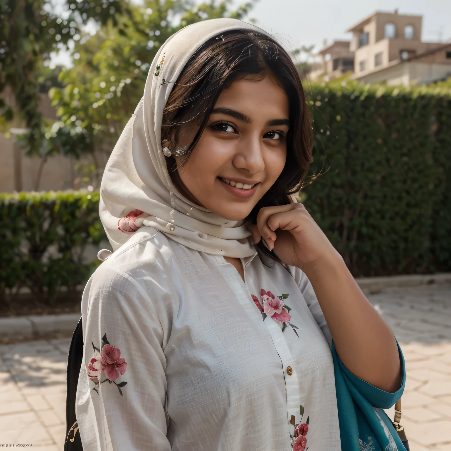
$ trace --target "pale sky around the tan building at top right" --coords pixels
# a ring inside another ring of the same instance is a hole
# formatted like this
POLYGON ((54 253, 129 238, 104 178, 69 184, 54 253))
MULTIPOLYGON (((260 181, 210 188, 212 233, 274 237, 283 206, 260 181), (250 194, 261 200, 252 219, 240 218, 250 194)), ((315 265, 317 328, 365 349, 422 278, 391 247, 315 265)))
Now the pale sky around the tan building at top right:
MULTIPOLYGON (((239 5, 241 2, 235 0, 239 5)), ((259 0, 249 17, 259 27, 286 40, 287 47, 315 44, 322 48, 323 39, 350 39, 345 30, 375 11, 423 15, 423 41, 451 42, 450 0, 259 0)))

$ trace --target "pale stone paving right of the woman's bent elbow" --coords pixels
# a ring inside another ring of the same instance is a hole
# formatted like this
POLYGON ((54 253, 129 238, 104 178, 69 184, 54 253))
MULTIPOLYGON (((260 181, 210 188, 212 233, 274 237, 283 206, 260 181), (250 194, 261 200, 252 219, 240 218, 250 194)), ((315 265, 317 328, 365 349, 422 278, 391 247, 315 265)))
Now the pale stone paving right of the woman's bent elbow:
POLYGON ((451 285, 368 295, 400 342, 407 381, 402 419, 411 451, 451 451, 451 285))

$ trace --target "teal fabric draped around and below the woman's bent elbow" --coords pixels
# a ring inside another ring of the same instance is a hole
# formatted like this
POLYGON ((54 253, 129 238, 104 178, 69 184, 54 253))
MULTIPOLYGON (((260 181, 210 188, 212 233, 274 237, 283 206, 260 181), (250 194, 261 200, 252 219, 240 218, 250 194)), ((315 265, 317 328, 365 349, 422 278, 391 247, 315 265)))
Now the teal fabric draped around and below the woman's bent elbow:
POLYGON ((335 389, 342 451, 405 451, 393 423, 382 409, 401 397, 405 386, 405 362, 398 345, 402 383, 395 393, 380 390, 345 368, 332 342, 335 389))

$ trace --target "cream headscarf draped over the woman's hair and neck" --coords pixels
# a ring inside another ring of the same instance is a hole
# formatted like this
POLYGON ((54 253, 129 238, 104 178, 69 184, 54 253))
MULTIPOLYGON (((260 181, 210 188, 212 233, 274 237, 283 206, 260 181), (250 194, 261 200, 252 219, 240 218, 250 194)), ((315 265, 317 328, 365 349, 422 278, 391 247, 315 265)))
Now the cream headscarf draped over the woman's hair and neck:
POLYGON ((174 82, 202 44, 229 30, 267 35, 236 19, 198 22, 172 35, 152 61, 144 96, 111 153, 101 182, 100 218, 114 250, 140 226, 151 226, 197 251, 235 258, 255 253, 244 221, 221 218, 179 192, 161 146, 163 110, 174 82), (158 75, 157 64, 161 66, 158 75))

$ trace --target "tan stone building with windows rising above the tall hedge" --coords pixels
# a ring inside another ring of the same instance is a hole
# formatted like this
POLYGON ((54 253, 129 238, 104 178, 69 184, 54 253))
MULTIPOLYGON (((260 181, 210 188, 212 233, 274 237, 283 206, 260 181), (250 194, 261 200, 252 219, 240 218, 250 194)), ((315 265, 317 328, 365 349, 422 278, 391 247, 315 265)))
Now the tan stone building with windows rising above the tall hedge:
POLYGON ((422 16, 376 12, 350 27, 352 39, 318 52, 322 65, 310 79, 353 71, 362 83, 427 84, 451 77, 451 44, 421 41, 422 16), (352 64, 351 64, 352 61, 352 64))

